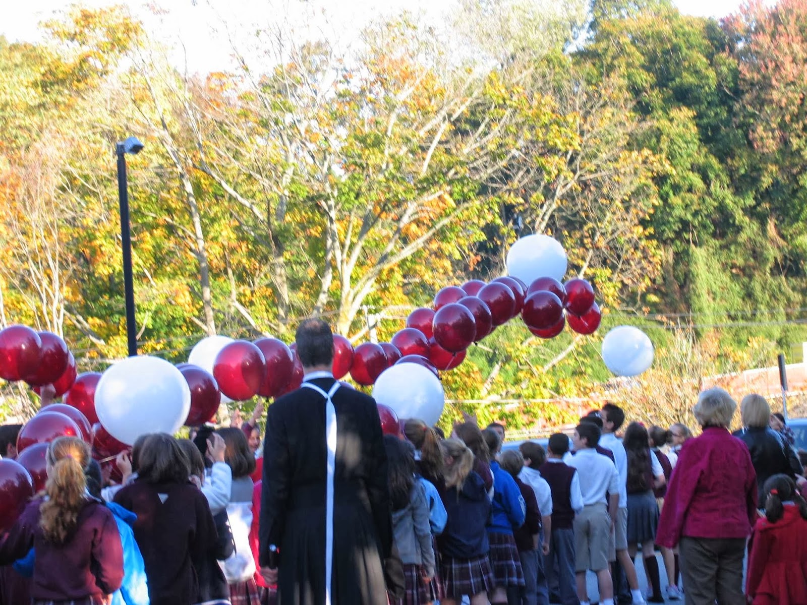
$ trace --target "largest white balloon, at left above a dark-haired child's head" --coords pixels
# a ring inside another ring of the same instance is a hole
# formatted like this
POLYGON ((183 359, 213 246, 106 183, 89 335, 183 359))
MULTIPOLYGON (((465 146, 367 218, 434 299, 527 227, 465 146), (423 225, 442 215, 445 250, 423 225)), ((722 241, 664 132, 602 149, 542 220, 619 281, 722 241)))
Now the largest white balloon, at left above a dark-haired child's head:
POLYGON ((111 436, 132 445, 140 435, 177 432, 190 411, 190 388, 169 361, 128 357, 98 381, 95 411, 111 436))

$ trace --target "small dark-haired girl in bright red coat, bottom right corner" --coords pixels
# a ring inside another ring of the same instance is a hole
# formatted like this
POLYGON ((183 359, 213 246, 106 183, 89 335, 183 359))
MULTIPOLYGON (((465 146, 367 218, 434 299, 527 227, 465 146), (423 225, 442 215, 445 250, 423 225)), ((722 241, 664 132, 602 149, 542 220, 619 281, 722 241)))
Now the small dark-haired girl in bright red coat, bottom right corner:
POLYGON ((788 475, 765 482, 765 517, 751 536, 746 595, 754 605, 807 603, 807 502, 788 475))

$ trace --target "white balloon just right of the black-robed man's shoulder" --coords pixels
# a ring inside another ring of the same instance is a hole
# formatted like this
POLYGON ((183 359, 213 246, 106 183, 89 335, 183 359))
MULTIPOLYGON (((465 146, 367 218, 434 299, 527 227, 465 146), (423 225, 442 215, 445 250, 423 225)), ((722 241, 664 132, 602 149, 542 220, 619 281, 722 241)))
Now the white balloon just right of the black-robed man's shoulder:
POLYGON ((445 406, 440 378, 423 365, 412 363, 385 369, 375 381, 373 397, 399 418, 418 418, 429 426, 437 424, 445 406))

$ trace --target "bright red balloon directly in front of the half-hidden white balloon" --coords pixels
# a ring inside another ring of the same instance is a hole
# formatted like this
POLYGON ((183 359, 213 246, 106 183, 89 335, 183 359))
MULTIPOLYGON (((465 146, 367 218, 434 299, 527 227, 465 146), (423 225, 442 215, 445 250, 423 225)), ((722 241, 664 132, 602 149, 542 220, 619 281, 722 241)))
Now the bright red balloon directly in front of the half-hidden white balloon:
POLYGON ((249 340, 236 340, 221 349, 213 363, 213 378, 233 401, 257 395, 266 377, 266 359, 249 340))

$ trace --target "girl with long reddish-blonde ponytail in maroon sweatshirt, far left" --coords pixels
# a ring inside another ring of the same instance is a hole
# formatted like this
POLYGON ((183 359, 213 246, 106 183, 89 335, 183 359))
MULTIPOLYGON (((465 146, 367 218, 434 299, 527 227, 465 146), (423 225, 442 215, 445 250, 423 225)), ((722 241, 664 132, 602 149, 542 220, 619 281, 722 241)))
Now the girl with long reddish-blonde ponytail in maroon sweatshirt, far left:
POLYGON ((48 447, 45 494, 28 504, 0 540, 0 565, 36 549, 34 603, 101 605, 123 581, 123 548, 115 517, 86 490, 90 447, 60 437, 48 447))

